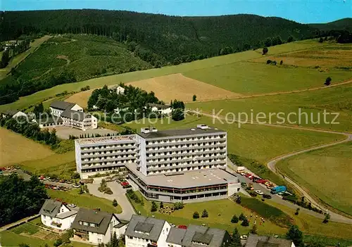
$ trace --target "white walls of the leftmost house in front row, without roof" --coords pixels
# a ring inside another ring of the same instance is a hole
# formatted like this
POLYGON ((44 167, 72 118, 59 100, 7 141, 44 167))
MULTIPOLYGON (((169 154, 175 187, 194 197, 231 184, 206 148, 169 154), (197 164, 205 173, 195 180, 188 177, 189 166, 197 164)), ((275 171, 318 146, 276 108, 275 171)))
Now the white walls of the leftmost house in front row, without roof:
POLYGON ((42 223, 46 225, 46 227, 51 227, 63 231, 71 227, 71 224, 76 217, 76 214, 70 215, 68 217, 61 217, 61 215, 65 215, 65 213, 68 212, 70 212, 70 209, 68 209, 65 205, 61 205, 59 213, 56 215, 56 217, 50 217, 48 215, 40 215, 40 217, 42 223))

